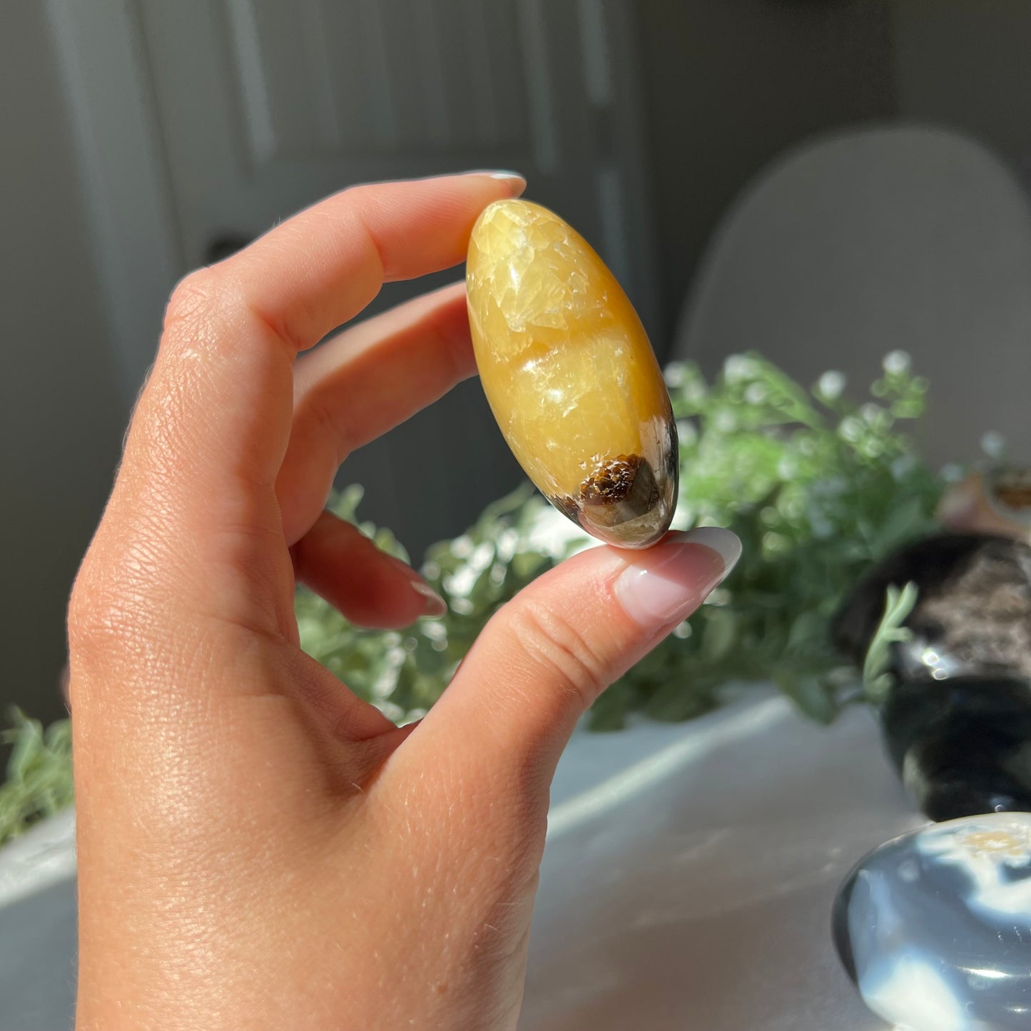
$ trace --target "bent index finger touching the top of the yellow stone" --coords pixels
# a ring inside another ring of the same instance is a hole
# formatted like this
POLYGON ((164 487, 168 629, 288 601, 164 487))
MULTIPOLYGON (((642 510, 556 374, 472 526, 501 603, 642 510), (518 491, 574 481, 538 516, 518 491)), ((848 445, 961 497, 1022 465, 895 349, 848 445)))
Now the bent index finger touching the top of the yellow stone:
POLYGON ((189 275, 169 303, 125 465, 143 463, 172 509, 196 499, 200 514, 233 484, 274 488, 297 352, 361 311, 383 282, 464 260, 484 207, 524 187, 491 172, 355 187, 189 275))

